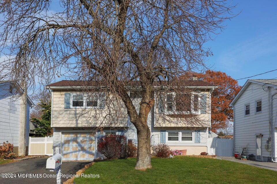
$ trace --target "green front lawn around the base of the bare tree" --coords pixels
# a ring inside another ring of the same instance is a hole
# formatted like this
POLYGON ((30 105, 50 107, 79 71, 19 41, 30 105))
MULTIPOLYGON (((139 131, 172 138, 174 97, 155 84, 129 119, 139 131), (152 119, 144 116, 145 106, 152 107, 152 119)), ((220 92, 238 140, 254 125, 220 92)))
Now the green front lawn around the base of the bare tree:
POLYGON ((99 178, 76 178, 85 183, 276 183, 277 172, 227 160, 192 158, 153 158, 152 168, 135 170, 135 158, 96 162, 84 174, 99 178))

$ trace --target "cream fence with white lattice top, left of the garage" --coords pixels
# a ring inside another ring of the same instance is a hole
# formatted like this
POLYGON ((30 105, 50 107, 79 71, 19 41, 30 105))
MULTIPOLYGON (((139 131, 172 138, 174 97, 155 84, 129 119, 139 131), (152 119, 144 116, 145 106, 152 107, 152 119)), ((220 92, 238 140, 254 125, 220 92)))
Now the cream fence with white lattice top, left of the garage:
POLYGON ((53 156, 53 137, 29 137, 28 154, 53 156))

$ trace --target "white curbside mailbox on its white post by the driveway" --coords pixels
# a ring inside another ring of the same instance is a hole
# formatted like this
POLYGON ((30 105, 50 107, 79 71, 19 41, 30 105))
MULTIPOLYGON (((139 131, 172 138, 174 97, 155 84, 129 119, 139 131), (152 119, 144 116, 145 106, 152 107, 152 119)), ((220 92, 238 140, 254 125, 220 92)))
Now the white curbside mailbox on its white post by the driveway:
POLYGON ((53 169, 56 170, 57 175, 57 184, 61 184, 61 161, 62 156, 61 154, 57 153, 52 157, 47 158, 46 161, 46 169, 53 169))

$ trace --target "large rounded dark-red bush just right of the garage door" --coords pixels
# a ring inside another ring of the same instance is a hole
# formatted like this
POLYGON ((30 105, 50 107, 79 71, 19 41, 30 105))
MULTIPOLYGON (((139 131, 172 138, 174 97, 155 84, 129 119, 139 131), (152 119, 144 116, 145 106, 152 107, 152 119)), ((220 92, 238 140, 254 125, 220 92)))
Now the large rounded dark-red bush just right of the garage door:
POLYGON ((123 135, 106 135, 97 141, 97 150, 107 159, 125 158, 127 140, 123 135))

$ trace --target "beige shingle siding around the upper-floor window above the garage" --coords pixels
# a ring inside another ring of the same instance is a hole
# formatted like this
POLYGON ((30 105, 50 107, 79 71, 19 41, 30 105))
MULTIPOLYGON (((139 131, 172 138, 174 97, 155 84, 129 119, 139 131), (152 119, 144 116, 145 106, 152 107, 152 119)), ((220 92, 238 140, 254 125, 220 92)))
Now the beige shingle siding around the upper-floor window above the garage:
MULTIPOLYGON (((116 112, 108 112, 108 108, 65 109, 64 93, 69 92, 68 90, 53 90, 53 127, 127 127, 127 112, 123 106, 117 108, 113 106, 112 109, 117 109, 116 112)), ((107 102, 107 104, 111 106, 112 103, 107 102)))

